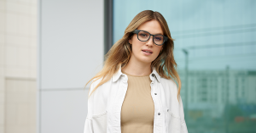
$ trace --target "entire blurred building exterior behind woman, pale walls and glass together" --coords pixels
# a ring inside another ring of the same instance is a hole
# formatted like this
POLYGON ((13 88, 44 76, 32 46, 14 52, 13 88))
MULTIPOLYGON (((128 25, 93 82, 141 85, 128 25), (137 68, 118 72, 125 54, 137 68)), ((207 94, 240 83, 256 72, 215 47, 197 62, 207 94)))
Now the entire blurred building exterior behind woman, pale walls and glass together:
POLYGON ((256 132, 256 1, 0 0, 0 133, 83 132, 104 54, 164 15, 189 133, 256 132))

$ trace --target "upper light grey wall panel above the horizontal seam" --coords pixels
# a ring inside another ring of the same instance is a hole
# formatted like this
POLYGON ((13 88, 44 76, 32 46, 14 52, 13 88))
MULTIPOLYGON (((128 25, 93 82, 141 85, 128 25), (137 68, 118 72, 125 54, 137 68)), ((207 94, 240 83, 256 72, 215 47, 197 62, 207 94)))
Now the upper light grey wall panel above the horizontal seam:
POLYGON ((103 62, 103 1, 41 1, 41 89, 84 86, 103 62))

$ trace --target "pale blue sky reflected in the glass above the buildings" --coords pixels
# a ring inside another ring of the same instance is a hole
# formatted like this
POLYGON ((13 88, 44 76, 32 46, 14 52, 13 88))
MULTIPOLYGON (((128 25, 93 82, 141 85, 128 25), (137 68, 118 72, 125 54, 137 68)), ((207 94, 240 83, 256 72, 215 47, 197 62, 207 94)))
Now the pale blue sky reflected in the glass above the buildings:
POLYGON ((184 69, 256 69, 256 1, 114 1, 113 42, 131 19, 145 9, 164 15, 176 41, 174 56, 184 69))

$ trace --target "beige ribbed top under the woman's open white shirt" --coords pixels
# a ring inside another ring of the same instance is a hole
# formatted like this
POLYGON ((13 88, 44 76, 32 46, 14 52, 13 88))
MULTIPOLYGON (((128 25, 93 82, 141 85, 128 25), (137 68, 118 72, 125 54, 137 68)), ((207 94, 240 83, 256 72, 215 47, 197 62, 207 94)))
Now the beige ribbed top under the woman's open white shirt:
POLYGON ((149 75, 125 75, 128 76, 128 88, 121 110, 121 131, 153 133, 154 102, 151 97, 149 75))

